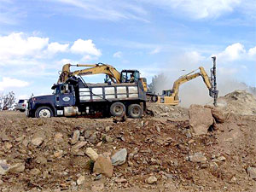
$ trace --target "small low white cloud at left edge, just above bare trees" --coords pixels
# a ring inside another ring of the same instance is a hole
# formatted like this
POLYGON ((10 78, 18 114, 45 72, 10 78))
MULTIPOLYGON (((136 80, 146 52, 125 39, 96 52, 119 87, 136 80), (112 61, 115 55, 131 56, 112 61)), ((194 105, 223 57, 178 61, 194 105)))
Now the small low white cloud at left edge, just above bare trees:
POLYGON ((0 90, 5 90, 7 88, 15 88, 15 87, 26 87, 28 84, 29 84, 28 82, 22 81, 19 79, 3 77, 2 81, 0 81, 0 90))

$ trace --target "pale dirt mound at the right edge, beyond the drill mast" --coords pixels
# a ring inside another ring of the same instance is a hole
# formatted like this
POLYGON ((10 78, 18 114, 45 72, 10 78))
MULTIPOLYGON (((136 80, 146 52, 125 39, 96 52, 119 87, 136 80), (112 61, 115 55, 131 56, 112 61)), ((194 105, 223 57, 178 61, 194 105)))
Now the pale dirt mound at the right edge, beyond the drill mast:
POLYGON ((235 90, 218 98, 218 108, 226 113, 256 114, 256 98, 246 90, 235 90))

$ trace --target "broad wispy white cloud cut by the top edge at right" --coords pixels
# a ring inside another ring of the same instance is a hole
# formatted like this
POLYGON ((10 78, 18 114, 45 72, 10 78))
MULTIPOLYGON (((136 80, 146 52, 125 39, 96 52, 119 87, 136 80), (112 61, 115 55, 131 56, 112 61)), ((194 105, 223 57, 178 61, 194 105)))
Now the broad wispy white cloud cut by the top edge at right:
POLYGON ((189 15, 194 19, 216 18, 232 12, 241 0, 143 0, 162 9, 175 11, 177 15, 189 15))

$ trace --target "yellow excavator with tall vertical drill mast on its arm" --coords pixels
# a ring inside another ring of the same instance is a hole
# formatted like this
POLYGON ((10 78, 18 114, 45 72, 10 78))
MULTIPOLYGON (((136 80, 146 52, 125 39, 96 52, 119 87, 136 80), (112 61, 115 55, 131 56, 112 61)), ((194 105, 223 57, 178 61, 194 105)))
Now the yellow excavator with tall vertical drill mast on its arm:
POLYGON ((199 67, 198 73, 195 73, 197 70, 192 71, 186 75, 181 76, 177 79, 173 85, 172 90, 163 90, 162 95, 150 95, 151 102, 169 104, 169 105, 177 105, 179 103, 178 99, 178 90, 181 84, 184 84, 192 79, 201 77, 204 83, 207 85, 209 90, 209 95, 214 98, 214 105, 217 105, 217 98, 218 98, 218 90, 217 90, 217 83, 216 83, 216 57, 212 57, 213 67, 211 68, 211 77, 207 75, 204 67, 199 67))

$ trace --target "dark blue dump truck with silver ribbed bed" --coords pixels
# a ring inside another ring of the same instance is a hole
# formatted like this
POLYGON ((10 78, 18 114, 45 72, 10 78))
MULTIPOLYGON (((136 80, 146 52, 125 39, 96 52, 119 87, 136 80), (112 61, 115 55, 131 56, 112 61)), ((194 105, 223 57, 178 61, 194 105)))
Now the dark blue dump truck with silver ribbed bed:
POLYGON ((145 81, 137 78, 132 83, 86 84, 81 77, 70 77, 65 83, 54 84, 52 95, 32 96, 26 105, 26 116, 50 118, 102 113, 141 118, 147 102, 145 81))

